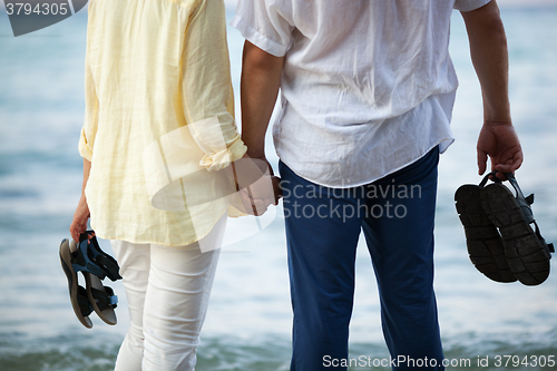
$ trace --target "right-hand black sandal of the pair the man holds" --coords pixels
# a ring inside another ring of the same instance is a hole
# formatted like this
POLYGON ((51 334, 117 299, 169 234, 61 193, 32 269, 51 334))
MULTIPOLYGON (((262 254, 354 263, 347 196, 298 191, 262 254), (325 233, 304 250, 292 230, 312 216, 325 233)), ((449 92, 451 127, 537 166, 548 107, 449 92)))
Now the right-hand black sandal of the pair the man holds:
POLYGON ((553 244, 541 237, 530 205, 534 195, 525 197, 512 174, 505 174, 516 195, 502 184, 490 184, 481 191, 481 204, 491 223, 499 228, 505 256, 512 274, 525 285, 538 285, 549 276, 553 244))

